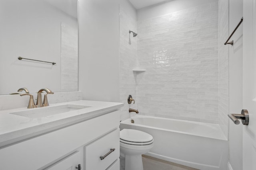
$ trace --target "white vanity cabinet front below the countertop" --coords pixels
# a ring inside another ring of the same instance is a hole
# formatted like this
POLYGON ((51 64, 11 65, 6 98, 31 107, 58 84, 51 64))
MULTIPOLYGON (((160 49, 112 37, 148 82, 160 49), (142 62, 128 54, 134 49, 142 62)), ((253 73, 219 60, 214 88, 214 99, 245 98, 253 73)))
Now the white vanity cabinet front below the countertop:
POLYGON ((78 164, 81 170, 118 170, 119 117, 112 111, 2 147, 0 170, 77 170, 78 164))

